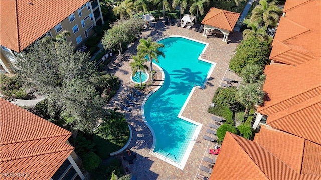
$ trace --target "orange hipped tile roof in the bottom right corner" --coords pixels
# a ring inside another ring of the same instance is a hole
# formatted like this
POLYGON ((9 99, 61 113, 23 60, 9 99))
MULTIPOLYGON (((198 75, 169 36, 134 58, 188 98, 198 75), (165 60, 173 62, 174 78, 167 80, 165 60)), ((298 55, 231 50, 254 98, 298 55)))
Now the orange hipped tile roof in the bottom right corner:
MULTIPOLYGON (((220 154, 216 160, 216 163, 213 168, 213 172, 211 174, 210 180, 213 179, 321 179, 321 175, 318 173, 320 171, 320 157, 321 154, 317 154, 314 152, 319 152, 320 145, 310 144, 310 142, 305 142, 304 152, 302 154, 302 146, 296 147, 291 145, 294 149, 297 150, 300 157, 295 157, 293 161, 288 154, 280 154, 276 152, 281 147, 278 144, 289 143, 284 140, 295 139, 298 140, 300 144, 302 141, 300 139, 296 139, 293 136, 284 135, 283 132, 272 132, 274 134, 269 133, 270 130, 266 132, 266 134, 261 134, 259 136, 259 140, 261 136, 268 137, 265 138, 278 138, 279 142, 277 144, 273 144, 275 149, 269 147, 266 149, 261 146, 259 143, 255 143, 238 135, 226 132, 220 154), (272 136, 274 135, 274 136, 272 136), (275 136, 276 135, 276 136, 275 136), (269 150, 272 149, 272 152, 269 150), (313 149, 313 151, 312 151, 313 149), (273 154, 274 153, 274 154, 273 154), (277 154, 278 153, 278 154, 277 154), (276 156, 278 155, 278 156, 276 156), (282 157, 286 162, 282 161, 279 157, 282 157), (301 164, 302 161, 299 160, 303 156, 302 165, 302 173, 298 172, 298 165, 301 164), (305 159, 304 159, 305 158, 305 159), (307 164, 310 161, 309 164, 307 164), (299 164, 295 164, 299 163, 299 164), (304 164, 305 163, 305 164, 304 164), (308 166, 310 165, 310 166, 308 166), (292 166, 296 166, 296 170, 292 168, 292 166), (309 172, 309 173, 303 173, 309 172)), ((304 142, 303 142, 304 144, 304 142)), ((271 144, 272 145, 272 144, 271 144)), ((281 150, 281 149, 280 149, 281 150)), ((284 151, 283 151, 284 152, 284 151)), ((287 153, 287 152, 286 152, 287 153)), ((289 153, 295 153, 294 150, 291 150, 289 153)))

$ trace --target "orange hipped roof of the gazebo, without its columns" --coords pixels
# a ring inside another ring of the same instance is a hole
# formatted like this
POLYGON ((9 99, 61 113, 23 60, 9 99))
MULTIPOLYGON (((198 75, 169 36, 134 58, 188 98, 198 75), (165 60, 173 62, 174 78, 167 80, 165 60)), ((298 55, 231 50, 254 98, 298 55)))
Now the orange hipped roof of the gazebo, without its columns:
POLYGON ((233 28, 239 17, 240 13, 230 12, 212 7, 205 15, 201 23, 228 31, 233 31, 233 28))

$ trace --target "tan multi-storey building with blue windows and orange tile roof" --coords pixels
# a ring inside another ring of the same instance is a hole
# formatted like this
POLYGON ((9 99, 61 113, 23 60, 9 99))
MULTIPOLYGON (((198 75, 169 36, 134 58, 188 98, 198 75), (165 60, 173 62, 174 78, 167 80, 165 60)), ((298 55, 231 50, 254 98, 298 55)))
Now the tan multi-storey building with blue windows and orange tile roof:
POLYGON ((68 30, 67 43, 77 49, 104 23, 99 0, 1 0, 0 6, 0 65, 8 73, 15 57, 42 38, 68 30))

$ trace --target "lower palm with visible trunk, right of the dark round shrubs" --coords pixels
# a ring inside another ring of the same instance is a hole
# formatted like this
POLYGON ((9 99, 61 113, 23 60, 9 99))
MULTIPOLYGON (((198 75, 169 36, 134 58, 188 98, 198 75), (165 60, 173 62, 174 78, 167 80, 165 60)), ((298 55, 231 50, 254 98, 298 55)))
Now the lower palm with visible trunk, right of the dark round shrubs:
POLYGON ((237 100, 245 106, 244 118, 248 113, 249 108, 255 104, 263 103, 264 92, 258 89, 258 84, 247 84, 240 86, 236 93, 237 100))

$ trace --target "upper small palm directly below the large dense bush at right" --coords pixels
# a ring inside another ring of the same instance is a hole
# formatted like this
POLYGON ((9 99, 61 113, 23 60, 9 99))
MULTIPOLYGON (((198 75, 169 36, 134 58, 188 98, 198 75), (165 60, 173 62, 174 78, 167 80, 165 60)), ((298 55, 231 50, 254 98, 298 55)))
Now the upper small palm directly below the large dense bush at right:
POLYGON ((245 66, 240 75, 243 77, 243 83, 257 83, 259 85, 262 84, 266 77, 263 74, 263 68, 258 65, 245 66))

